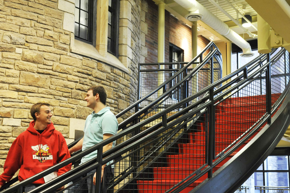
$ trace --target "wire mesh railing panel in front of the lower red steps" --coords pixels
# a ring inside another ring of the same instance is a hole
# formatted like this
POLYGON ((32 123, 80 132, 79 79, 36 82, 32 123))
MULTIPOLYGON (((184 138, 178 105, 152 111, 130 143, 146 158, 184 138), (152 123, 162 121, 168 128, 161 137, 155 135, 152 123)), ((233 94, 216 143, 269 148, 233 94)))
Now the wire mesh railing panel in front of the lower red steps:
MULTIPOLYGON (((115 190, 123 192, 166 192, 182 183, 197 169, 206 165, 207 113, 193 116, 170 128, 154 128, 149 140, 126 153, 126 159, 115 163, 116 171, 130 171, 131 175, 117 174, 115 190), (198 133, 198 135, 195 135, 198 133), (124 178, 124 179, 122 179, 124 178), (123 184, 122 184, 123 183, 123 184)), ((161 120, 160 120, 161 121, 161 120)), ((150 125, 146 130, 150 129, 150 125)), ((204 179, 206 176, 204 177, 204 179)))

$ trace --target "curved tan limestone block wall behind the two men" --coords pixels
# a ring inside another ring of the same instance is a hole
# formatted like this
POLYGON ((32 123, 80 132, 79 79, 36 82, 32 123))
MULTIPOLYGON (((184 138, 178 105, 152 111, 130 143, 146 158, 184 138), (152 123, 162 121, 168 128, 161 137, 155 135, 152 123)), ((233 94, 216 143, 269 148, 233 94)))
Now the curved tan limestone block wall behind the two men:
POLYGON ((0 173, 11 143, 32 120, 32 104, 51 104, 52 122, 70 143, 92 112, 84 101, 90 86, 106 88, 114 114, 136 100, 141 1, 120 2, 119 60, 106 62, 72 52, 73 0, 0 0, 0 173))

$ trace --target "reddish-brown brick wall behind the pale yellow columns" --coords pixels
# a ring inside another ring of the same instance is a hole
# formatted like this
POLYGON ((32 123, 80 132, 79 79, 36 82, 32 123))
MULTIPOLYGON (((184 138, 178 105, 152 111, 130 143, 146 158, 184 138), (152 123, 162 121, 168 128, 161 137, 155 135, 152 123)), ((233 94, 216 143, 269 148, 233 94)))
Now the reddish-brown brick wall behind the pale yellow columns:
MULTIPOLYGON (((143 32, 145 47, 147 48, 144 63, 155 63, 157 62, 158 49, 158 6, 151 0, 144 0, 143 5, 145 7, 143 9, 145 14, 144 25, 146 25, 146 30, 143 28, 143 32)), ((210 41, 203 36, 198 36, 197 42, 197 46, 202 50, 210 41)), ((184 61, 191 61, 191 28, 180 23, 178 19, 165 10, 165 62, 169 62, 169 43, 173 43, 184 50, 184 61)))

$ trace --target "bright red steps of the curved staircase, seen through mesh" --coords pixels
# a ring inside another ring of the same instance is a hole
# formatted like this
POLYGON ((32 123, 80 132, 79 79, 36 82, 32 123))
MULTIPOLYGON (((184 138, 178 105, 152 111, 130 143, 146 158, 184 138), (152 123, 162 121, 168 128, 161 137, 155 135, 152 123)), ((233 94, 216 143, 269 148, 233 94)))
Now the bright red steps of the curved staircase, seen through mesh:
MULTIPOLYGON (((234 97, 226 99, 216 106, 215 119, 217 121, 215 124, 215 148, 217 149, 217 153, 228 148, 239 136, 242 136, 244 132, 249 130, 249 125, 254 125, 254 123, 258 121, 258 118, 264 114, 263 112, 265 112, 266 105, 265 101, 262 100, 263 98, 265 98, 264 95, 234 97), (241 117, 243 117, 243 119, 241 119, 241 117), (248 118, 244 119, 244 117, 248 118)), ((202 117, 205 117, 205 115, 202 117)), ((258 133, 259 130, 256 133, 258 133)), ((174 185, 186 181, 187 176, 193 174, 200 165, 206 164, 207 134, 208 127, 206 123, 197 123, 195 132, 187 134, 187 143, 179 143, 178 152, 166 156, 167 166, 153 168, 152 181, 137 181, 138 192, 164 193, 174 187, 174 185)), ((218 168, 242 149, 253 136, 231 153, 229 157, 213 167, 213 172, 218 170, 218 168)), ((208 175, 204 174, 194 183, 191 183, 183 189, 181 193, 191 191, 207 177, 208 175)))

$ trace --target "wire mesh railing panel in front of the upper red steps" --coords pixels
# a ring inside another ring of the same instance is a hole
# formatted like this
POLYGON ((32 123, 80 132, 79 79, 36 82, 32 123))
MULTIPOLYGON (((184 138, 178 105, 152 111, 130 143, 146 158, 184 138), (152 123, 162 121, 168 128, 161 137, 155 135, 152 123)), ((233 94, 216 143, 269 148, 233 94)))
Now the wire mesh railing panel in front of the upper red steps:
MULTIPOLYGON (((225 149, 229 150, 266 113, 266 96, 252 96, 248 86, 240 92, 243 97, 228 98, 215 107, 216 156, 225 149)), ((254 81, 251 87, 253 92, 260 90, 260 85, 254 81)))

